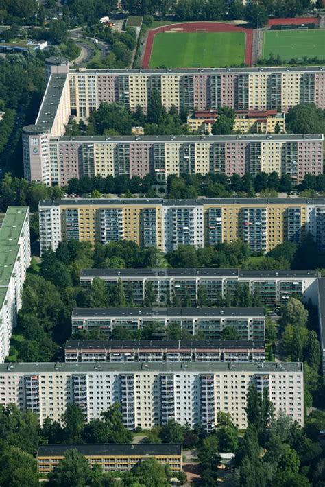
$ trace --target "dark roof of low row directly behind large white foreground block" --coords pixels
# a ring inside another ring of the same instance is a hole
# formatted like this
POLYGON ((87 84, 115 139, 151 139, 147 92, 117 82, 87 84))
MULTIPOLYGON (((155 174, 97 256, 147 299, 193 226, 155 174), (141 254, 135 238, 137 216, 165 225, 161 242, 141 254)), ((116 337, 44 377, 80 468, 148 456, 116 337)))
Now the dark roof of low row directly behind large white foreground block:
POLYGON ((263 340, 67 340, 71 348, 265 348, 263 340))

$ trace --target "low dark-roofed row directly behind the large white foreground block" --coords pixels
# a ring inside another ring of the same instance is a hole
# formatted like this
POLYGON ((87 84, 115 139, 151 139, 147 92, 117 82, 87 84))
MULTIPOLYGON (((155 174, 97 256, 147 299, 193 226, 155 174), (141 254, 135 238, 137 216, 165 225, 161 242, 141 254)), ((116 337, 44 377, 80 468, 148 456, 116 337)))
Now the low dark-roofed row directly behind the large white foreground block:
POLYGON ((264 340, 67 340, 66 362, 265 362, 264 340))

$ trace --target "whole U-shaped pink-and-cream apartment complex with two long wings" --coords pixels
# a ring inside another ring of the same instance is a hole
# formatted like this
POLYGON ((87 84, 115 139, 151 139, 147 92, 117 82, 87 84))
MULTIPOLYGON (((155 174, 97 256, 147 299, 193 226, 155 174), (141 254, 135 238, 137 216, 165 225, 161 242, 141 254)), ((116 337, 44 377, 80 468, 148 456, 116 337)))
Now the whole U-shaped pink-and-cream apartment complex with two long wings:
POLYGON ((152 90, 168 109, 184 107, 286 112, 298 103, 325 108, 323 67, 79 70, 62 58, 46 61, 47 89, 34 125, 23 129, 27 180, 67 185, 70 178, 128 174, 258 171, 290 174, 322 172, 322 135, 193 137, 64 137, 69 117, 89 117, 101 102, 119 102, 147 111, 152 90))

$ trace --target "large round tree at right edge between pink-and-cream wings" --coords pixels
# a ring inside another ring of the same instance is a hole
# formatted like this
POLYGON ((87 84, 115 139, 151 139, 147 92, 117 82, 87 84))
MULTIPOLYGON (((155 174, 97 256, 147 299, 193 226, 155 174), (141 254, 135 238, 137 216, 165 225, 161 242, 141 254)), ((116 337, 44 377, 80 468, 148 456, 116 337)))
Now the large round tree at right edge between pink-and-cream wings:
POLYGON ((324 113, 314 103, 299 104, 290 108, 285 117, 287 132, 293 134, 319 134, 324 132, 324 113))

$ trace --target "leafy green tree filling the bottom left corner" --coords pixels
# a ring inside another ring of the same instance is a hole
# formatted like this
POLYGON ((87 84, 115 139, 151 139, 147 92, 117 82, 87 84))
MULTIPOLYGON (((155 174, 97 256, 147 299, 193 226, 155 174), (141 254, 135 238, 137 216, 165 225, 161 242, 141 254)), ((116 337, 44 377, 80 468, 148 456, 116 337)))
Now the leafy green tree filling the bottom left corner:
POLYGON ((37 487, 39 477, 35 458, 16 447, 8 447, 2 451, 0 485, 3 487, 37 487))

